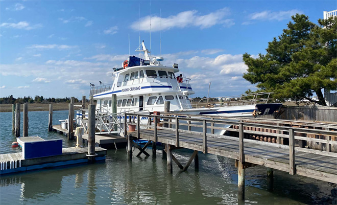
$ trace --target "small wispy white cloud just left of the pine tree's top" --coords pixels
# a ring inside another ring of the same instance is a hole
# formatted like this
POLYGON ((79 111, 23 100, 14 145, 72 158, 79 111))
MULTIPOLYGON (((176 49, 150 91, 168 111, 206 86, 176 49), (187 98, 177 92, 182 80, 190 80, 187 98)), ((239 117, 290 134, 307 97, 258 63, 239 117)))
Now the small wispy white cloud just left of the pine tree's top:
POLYGON ((262 11, 262 12, 256 12, 250 15, 251 20, 284 20, 288 19, 291 16, 295 15, 296 13, 303 13, 300 10, 293 9, 288 11, 262 11))

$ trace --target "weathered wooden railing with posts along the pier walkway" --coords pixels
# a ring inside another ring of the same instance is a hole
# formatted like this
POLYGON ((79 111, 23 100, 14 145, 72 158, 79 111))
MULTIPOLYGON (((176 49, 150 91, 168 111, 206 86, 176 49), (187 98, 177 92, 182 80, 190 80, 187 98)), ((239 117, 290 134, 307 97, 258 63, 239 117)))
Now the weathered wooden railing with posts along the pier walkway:
MULTIPOLYGON (((182 143, 185 144, 185 139, 183 141, 179 138, 179 133, 189 133, 189 134, 202 134, 203 143, 202 150, 204 153, 208 152, 209 146, 207 141, 209 139, 227 139, 232 141, 239 142, 239 153, 236 160, 241 162, 245 162, 244 155, 246 154, 244 151, 244 143, 251 143, 257 145, 266 145, 269 147, 281 148, 288 150, 288 164, 284 164, 283 167, 278 167, 277 169, 282 171, 288 171, 290 174, 296 174, 296 161, 295 161, 295 151, 310 153, 310 154, 318 154, 322 156, 335 157, 337 159, 336 149, 334 152, 331 152, 331 146, 337 146, 337 125, 336 124, 319 124, 319 123, 310 123, 310 122, 298 122, 294 121, 285 121, 285 120, 266 120, 266 119, 249 119, 249 118, 213 118, 213 117, 204 117, 204 116, 194 116, 194 115, 182 115, 180 113, 164 113, 162 116, 156 115, 139 115, 135 114, 125 114, 125 118, 132 117, 137 119, 136 123, 126 122, 125 124, 134 124, 137 127, 137 138, 140 138, 140 132, 142 129, 142 125, 139 123, 139 119, 141 117, 146 117, 151 119, 152 124, 143 128, 150 128, 154 130, 154 141, 158 142, 158 130, 172 130, 175 133, 175 146, 179 147, 182 143), (159 121, 160 120, 160 121, 159 121), (302 127, 300 127, 302 126, 302 127), (319 128, 319 129, 317 129, 319 128), (231 133, 236 133, 234 136, 232 135, 222 135, 215 134, 215 130, 225 130, 231 133), (244 136, 247 135, 262 135, 262 136, 274 136, 278 138, 277 143, 272 142, 263 142, 252 139, 245 139, 244 136), (317 138, 308 138, 306 135, 315 135, 317 138), (283 139, 283 143, 280 143, 280 139, 283 139), (286 142, 287 141, 287 142, 286 142), (322 150, 314 150, 310 148, 301 147, 300 143, 295 145, 296 141, 311 141, 315 143, 322 143, 326 145, 324 151, 322 150)), ((214 146, 214 145, 212 145, 214 146)), ((221 146, 221 145, 219 145, 221 146)), ((186 148, 186 147, 185 147, 186 148)), ((196 147, 191 148, 196 149, 196 147)), ((235 158, 235 157, 234 157, 235 158)), ((253 162, 258 165, 264 165, 267 167, 273 168, 273 162, 253 162), (266 164, 267 163, 267 164, 266 164), (270 164, 268 164, 270 163, 270 164)), ((303 170, 302 170, 303 171, 303 170)), ((302 173, 301 171, 301 173, 302 173)), ((317 173, 313 173, 312 177, 328 180, 326 176, 315 175, 317 173)), ((303 175, 303 174, 302 174, 303 175)), ((333 179, 333 181, 337 182, 337 179, 333 179)))

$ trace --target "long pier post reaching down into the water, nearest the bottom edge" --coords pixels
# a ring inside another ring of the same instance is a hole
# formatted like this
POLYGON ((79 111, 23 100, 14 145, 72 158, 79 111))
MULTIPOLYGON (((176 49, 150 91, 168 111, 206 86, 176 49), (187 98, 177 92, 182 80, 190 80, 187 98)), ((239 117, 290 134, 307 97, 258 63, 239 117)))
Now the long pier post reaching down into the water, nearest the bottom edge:
POLYGON ((242 123, 239 123, 239 160, 237 168, 237 187, 238 193, 237 198, 239 200, 245 199, 245 155, 244 155, 244 126, 242 123))

